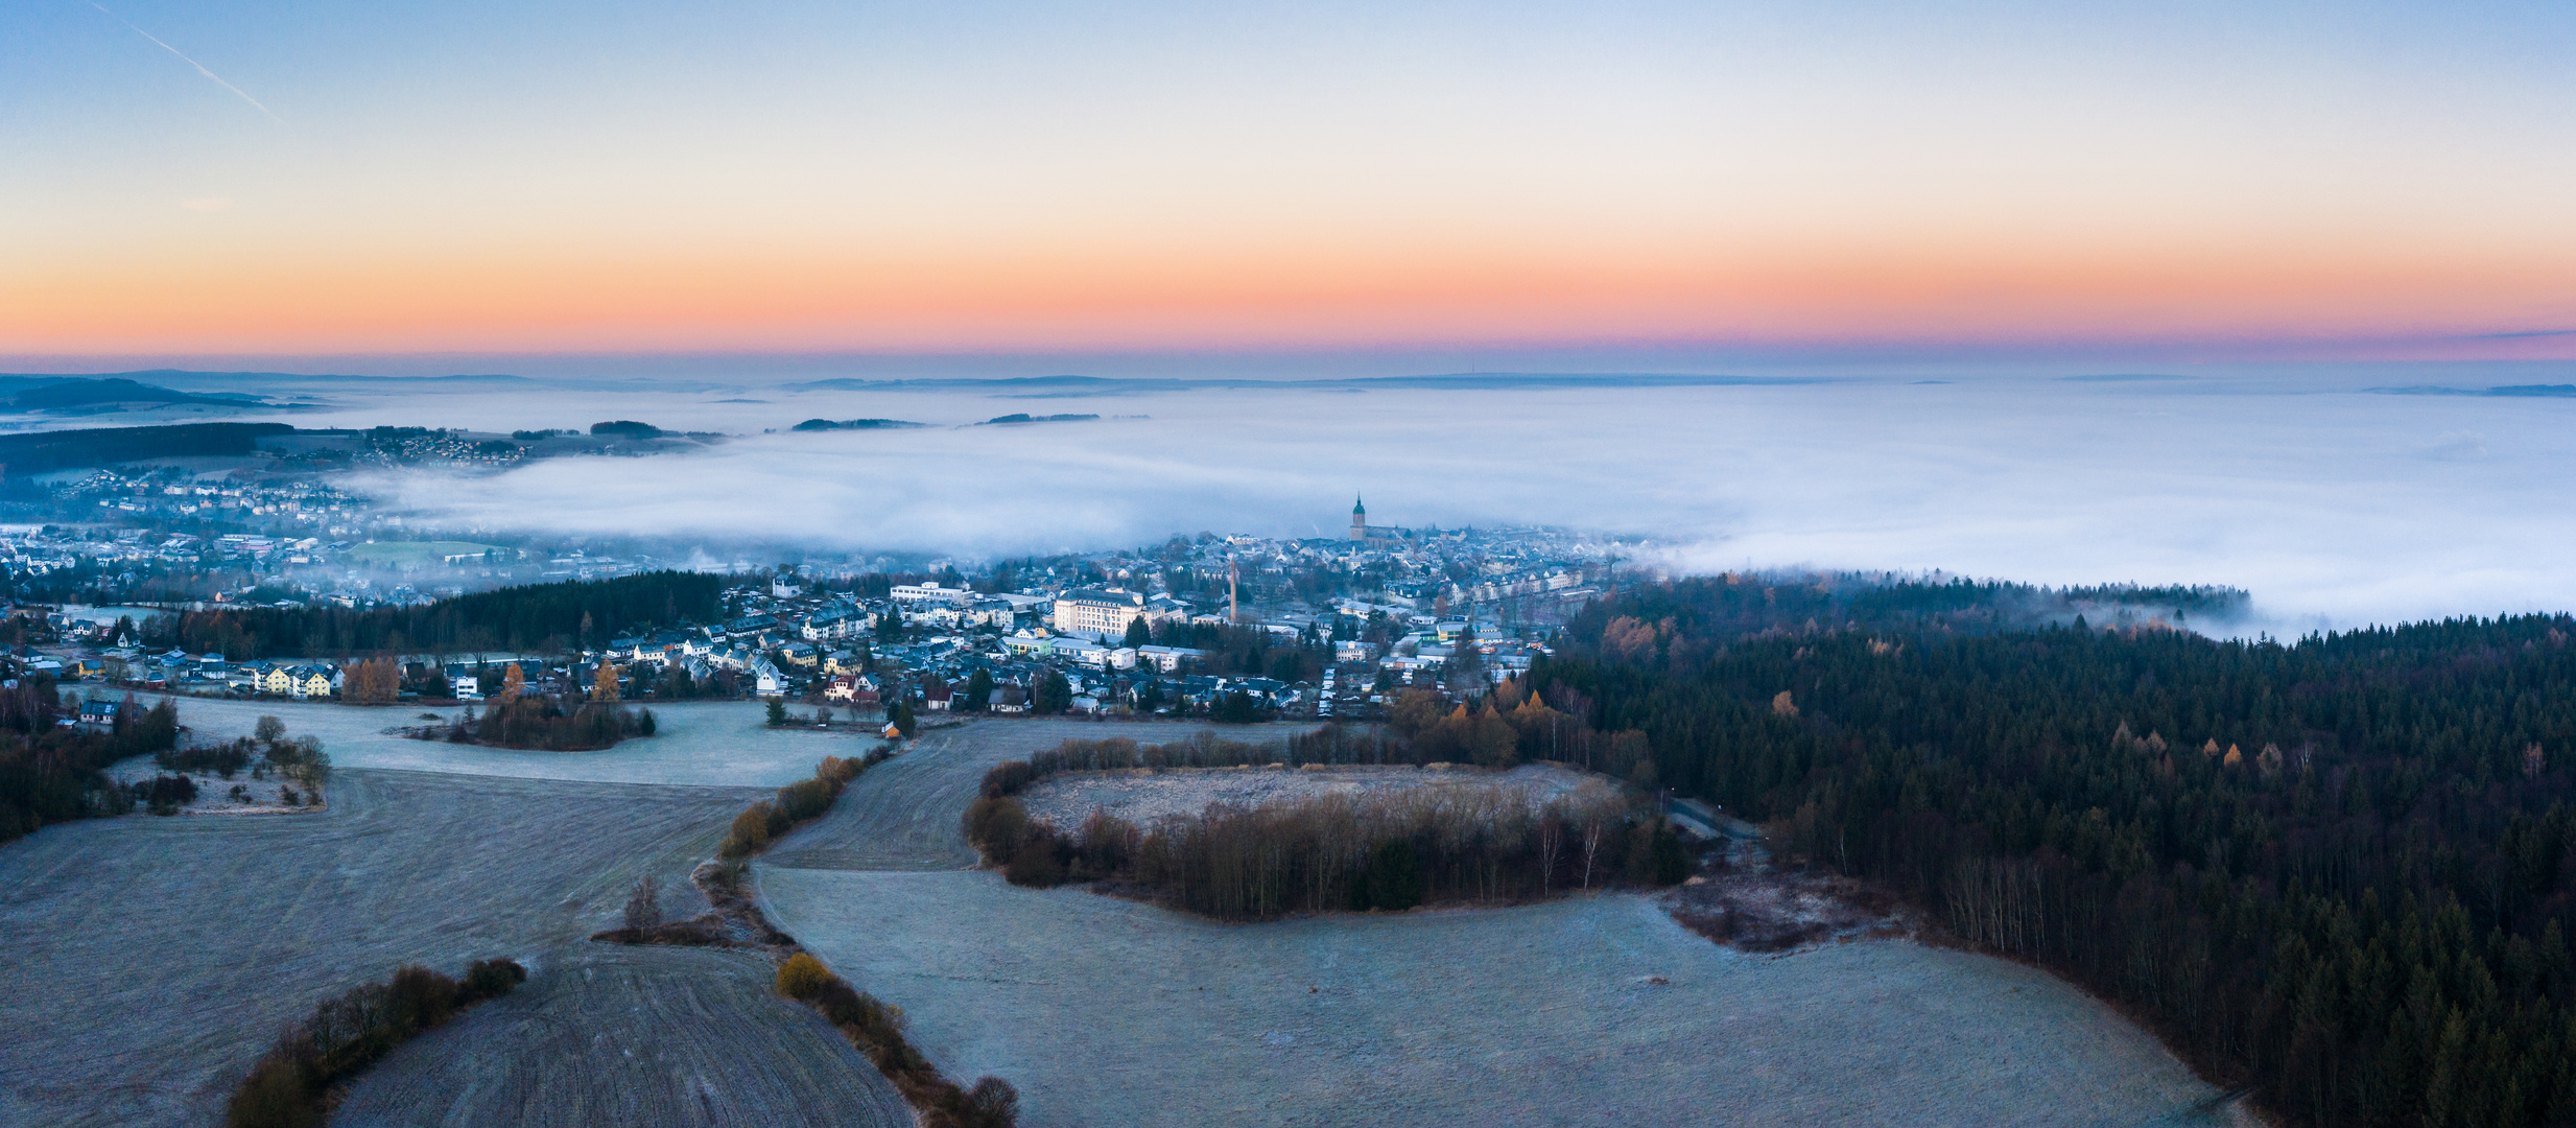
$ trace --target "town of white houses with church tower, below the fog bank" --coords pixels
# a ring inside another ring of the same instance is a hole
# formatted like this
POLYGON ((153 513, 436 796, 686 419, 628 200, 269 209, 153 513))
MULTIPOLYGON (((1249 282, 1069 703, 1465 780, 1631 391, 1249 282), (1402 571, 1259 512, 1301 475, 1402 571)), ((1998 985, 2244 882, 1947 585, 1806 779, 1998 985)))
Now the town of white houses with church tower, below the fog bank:
MULTIPOLYGON (((554 646, 471 654, 188 652, 178 618, 222 608, 435 605, 410 585, 363 577, 327 595, 278 585, 281 569, 348 546, 232 533, 209 543, 134 531, 10 531, 21 587, 59 569, 237 572, 240 590, 185 603, 36 603, 21 592, 8 634, 21 675, 113 690, 234 698, 350 698, 353 662, 399 662, 399 698, 459 703, 513 672, 523 693, 595 700, 768 698, 850 716, 1077 713, 1376 719, 1404 690, 1479 698, 1551 652, 1564 616, 1600 595, 1618 541, 1546 528, 1440 531, 1370 525, 1347 536, 1195 536, 1162 546, 994 561, 961 572, 876 572, 855 561, 739 569, 721 621, 595 623, 554 646), (278 595, 263 600, 260 595, 278 595), (603 677, 605 670, 605 677, 603 677)), ((407 546, 417 541, 392 541, 407 546)), ((446 543, 446 541, 430 541, 446 543)), ((502 564, 459 554, 438 564, 502 564)), ((515 554, 507 554, 515 561, 515 554)), ((435 556, 422 556, 430 561, 435 556)), ((549 564, 582 564, 577 556, 549 564)), ((312 569, 307 569, 309 574, 312 569)), ((600 577, 631 567, 600 569, 600 577)), ((562 572, 541 572, 564 579, 562 572)), ((585 574, 587 577, 587 574, 585 574)), ((582 577, 572 577, 582 579, 582 577)), ((448 590, 446 595, 456 595, 448 590)), ((374 682, 371 682, 374 685, 374 682)), ((374 693, 374 688, 368 690, 374 693)))

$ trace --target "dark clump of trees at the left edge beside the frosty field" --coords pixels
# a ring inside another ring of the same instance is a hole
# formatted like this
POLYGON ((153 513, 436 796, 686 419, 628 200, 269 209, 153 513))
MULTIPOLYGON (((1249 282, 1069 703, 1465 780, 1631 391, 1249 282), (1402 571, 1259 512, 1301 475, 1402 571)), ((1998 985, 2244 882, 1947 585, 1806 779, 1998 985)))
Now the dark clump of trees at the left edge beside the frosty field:
POLYGON ((62 726, 67 706, 49 677, 28 675, 0 688, 0 842, 103 814, 126 814, 134 796, 106 767, 178 747, 178 706, 167 698, 139 708, 126 695, 106 731, 62 726))

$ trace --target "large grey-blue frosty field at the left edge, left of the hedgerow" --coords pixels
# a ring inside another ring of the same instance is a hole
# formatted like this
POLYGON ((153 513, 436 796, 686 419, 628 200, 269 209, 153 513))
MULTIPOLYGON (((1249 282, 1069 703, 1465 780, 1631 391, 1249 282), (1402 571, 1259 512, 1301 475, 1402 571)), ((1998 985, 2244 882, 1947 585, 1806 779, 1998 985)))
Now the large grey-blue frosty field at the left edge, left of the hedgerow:
MULTIPOLYGON (((340 770, 330 791, 325 814, 98 819, 0 852, 0 935, 10 937, 0 1125, 216 1123, 232 1082, 286 1020, 407 961, 456 971, 513 955, 533 971, 538 1002, 572 992, 551 1007, 626 1007, 616 994, 585 1004, 554 973, 595 958, 600 945, 582 937, 611 925, 636 876, 685 888, 688 865, 762 796, 392 770, 340 770)), ((690 894, 670 901, 696 912, 690 894)), ((778 1030, 744 1046, 793 1053, 739 1056, 742 1074, 804 1092, 814 1107, 884 1084, 876 1071, 827 1069, 845 1061, 840 1038, 796 1007, 773 1010, 778 1030)), ((440 1038, 479 1030, 510 1038, 479 1012, 440 1038)), ((407 1046, 386 1069, 417 1051, 407 1046)))

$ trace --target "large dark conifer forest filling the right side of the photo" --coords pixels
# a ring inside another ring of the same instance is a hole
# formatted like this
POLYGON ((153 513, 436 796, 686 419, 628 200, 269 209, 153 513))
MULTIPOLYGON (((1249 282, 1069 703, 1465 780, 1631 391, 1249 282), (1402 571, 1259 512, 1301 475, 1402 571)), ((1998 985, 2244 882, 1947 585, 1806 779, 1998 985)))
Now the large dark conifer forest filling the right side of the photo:
POLYGON ((1726 634, 1625 592, 1533 682, 1651 775, 2154 1025, 2303 1125, 2576 1123, 2576 621, 1726 634))

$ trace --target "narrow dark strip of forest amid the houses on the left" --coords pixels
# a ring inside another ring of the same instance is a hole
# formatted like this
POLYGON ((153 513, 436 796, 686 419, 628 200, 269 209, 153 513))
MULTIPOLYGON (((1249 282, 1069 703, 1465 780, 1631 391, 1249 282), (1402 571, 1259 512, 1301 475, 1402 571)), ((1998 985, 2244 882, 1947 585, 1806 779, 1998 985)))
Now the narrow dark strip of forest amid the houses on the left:
POLYGON ((178 616, 178 646, 263 657, 554 652, 641 626, 721 618, 724 577, 644 572, 456 595, 425 608, 240 608, 178 616))

